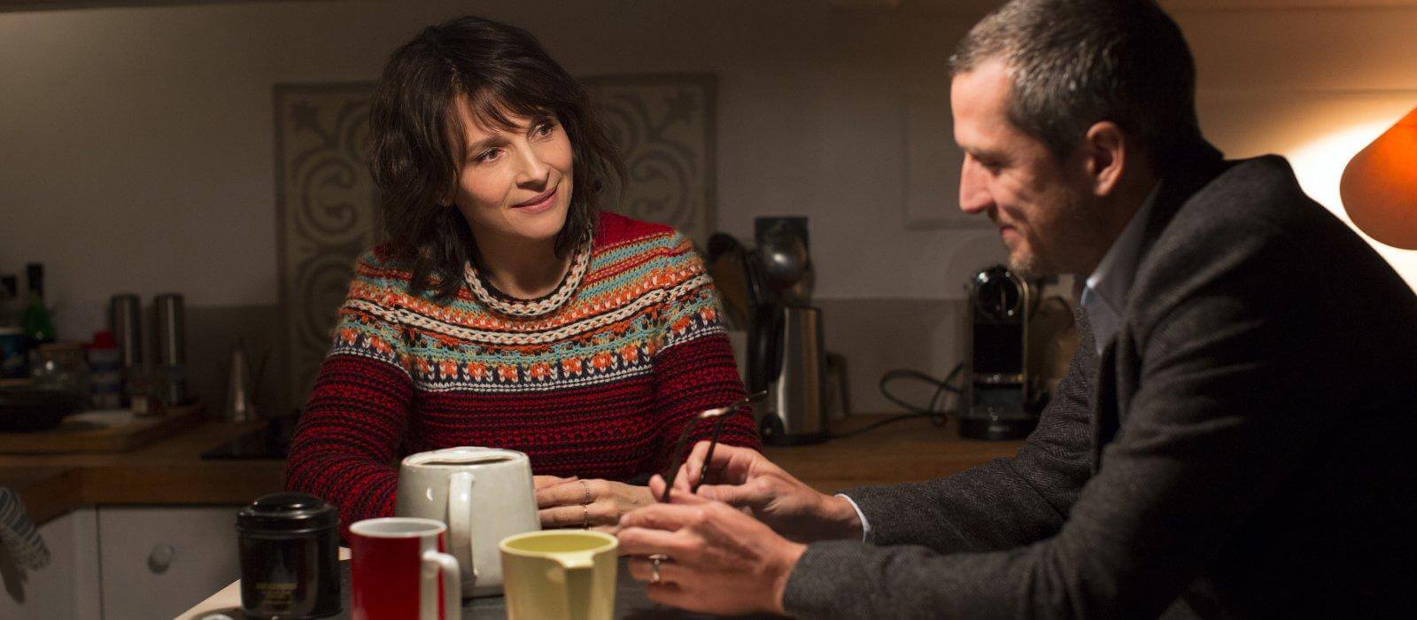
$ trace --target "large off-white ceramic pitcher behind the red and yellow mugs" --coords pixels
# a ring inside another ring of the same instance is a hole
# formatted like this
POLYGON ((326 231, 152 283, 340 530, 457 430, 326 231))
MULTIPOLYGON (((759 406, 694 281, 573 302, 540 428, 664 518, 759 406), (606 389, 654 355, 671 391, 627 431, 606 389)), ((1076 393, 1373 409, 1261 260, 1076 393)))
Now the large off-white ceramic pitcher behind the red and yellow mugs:
POLYGON ((463 596, 502 593, 497 544, 541 529, 531 461, 516 450, 448 447, 404 457, 394 514, 448 524, 463 596))

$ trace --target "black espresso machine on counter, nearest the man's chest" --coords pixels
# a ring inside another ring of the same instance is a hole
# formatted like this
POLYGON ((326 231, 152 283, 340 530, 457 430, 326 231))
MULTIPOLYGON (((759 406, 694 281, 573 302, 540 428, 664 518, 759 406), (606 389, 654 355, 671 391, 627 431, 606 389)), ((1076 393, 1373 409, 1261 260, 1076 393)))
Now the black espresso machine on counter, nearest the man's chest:
POLYGON ((1029 280, 1003 265, 969 279, 961 436, 1019 439, 1037 426, 1039 399, 1029 377, 1029 321, 1036 294, 1029 280))

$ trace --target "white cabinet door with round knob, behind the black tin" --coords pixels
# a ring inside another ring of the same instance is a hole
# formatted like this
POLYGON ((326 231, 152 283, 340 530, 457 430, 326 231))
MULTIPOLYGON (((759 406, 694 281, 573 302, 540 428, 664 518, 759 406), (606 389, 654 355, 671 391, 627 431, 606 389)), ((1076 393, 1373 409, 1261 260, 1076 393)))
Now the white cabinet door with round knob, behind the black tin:
POLYGON ((241 578, 237 507, 99 507, 103 619, 174 617, 241 578))

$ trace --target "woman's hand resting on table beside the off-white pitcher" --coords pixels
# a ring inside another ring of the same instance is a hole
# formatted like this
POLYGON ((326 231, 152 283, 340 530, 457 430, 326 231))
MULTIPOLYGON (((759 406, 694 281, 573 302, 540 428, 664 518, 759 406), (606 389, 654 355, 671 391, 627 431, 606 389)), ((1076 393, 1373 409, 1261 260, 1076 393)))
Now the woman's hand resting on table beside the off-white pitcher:
POLYGON ((621 515, 653 503, 648 487, 611 480, 536 477, 537 517, 543 528, 591 528, 615 534, 621 515))

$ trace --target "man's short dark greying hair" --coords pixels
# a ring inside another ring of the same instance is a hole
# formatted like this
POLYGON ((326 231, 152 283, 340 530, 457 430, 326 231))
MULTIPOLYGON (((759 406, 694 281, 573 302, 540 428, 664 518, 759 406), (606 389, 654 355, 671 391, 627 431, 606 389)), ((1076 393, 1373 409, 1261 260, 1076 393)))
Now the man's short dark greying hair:
POLYGON ((969 30, 951 72, 993 58, 1013 82, 1009 120, 1058 157, 1102 120, 1139 137, 1159 170, 1202 142, 1195 59, 1152 0, 1013 0, 969 30))

